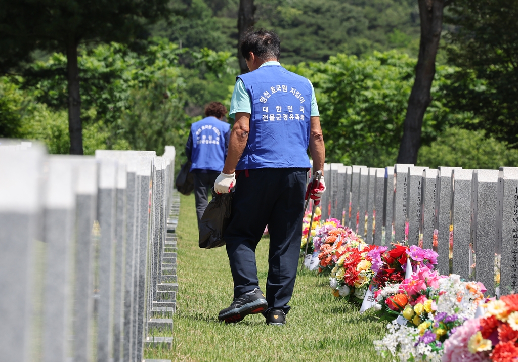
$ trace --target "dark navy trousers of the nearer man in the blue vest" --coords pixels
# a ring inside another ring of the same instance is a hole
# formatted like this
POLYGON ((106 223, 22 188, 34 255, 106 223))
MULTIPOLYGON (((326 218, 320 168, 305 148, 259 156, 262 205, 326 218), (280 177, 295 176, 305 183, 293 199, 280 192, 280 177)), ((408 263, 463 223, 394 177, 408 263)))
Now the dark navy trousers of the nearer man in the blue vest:
POLYGON ((268 225, 268 310, 290 310, 287 303, 297 276, 307 171, 262 168, 249 170, 249 177, 240 173, 232 200, 232 220, 224 234, 234 298, 259 286, 255 248, 268 225))

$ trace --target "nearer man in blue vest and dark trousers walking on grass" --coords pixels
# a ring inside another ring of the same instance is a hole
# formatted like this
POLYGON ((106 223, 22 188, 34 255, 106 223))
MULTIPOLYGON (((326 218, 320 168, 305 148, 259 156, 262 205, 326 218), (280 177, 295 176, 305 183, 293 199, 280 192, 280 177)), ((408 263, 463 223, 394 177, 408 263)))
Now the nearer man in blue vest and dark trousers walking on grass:
MULTIPOLYGON (((232 218, 224 233, 234 279, 234 301, 220 321, 234 323, 263 313, 266 323, 283 325, 297 274, 307 171, 324 165, 325 149, 311 82, 279 63, 280 39, 251 31, 241 39, 250 73, 237 77, 229 117, 235 118, 223 171, 214 190, 235 186, 232 218), (266 296, 259 288, 255 248, 265 226, 270 234, 266 296)), ((311 185, 311 182, 310 182, 311 185)), ((306 192, 315 201, 324 178, 306 192)))

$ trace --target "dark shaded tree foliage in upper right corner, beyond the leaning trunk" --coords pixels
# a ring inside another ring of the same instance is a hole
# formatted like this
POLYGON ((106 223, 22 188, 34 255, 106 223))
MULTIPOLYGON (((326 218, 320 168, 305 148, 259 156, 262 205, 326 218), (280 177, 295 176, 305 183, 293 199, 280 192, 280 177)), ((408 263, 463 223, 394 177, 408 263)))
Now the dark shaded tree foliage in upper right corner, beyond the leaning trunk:
POLYGON ((455 0, 445 21, 449 61, 460 68, 445 84, 448 105, 472 111, 470 129, 518 147, 518 2, 455 0))

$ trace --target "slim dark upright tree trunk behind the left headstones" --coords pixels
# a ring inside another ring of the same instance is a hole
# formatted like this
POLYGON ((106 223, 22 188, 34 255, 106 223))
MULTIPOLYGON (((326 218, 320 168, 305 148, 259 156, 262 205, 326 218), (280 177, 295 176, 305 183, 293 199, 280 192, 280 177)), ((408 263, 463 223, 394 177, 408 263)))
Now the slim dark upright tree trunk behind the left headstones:
POLYGON ((68 132, 70 133, 70 154, 83 154, 83 132, 81 125, 81 95, 79 94, 79 67, 77 65, 77 42, 66 44, 66 70, 68 81, 68 132))

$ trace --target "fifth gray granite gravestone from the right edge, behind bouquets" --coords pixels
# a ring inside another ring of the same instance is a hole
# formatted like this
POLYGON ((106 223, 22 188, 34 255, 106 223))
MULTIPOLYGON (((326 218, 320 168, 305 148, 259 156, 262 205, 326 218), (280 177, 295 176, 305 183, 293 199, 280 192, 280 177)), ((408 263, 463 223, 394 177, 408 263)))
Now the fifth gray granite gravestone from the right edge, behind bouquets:
POLYGON ((421 219, 419 222, 418 245, 424 249, 437 251, 437 245, 433 247, 435 229, 435 200, 437 193, 437 170, 425 169, 423 171, 423 191, 421 196, 421 219))

